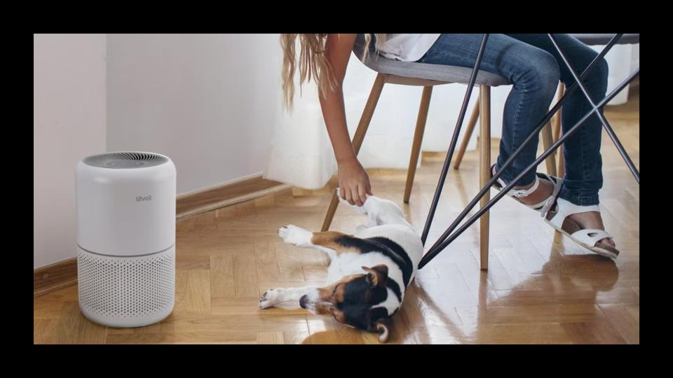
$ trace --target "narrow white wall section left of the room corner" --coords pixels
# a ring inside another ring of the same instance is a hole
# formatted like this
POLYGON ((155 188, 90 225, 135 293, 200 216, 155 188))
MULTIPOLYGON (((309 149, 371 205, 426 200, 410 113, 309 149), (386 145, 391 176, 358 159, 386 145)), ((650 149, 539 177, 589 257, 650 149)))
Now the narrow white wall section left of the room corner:
POLYGON ((33 37, 33 267, 75 256, 74 172, 105 150, 105 35, 33 37))

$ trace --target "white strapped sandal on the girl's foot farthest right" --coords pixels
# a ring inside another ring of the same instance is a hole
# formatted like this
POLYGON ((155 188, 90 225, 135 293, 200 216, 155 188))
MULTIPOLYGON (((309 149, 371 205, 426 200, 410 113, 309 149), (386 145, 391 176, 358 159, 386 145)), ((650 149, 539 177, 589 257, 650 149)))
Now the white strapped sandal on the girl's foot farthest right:
POLYGON ((572 214, 587 213, 589 211, 598 211, 600 213, 601 210, 598 205, 578 206, 562 198, 558 198, 554 203, 556 206, 552 207, 547 213, 545 222, 593 253, 607 258, 617 258, 619 255, 617 248, 598 243, 602 239, 613 239, 610 234, 604 230, 595 228, 582 228, 576 221, 569 218, 572 214))

